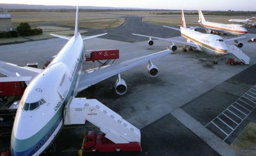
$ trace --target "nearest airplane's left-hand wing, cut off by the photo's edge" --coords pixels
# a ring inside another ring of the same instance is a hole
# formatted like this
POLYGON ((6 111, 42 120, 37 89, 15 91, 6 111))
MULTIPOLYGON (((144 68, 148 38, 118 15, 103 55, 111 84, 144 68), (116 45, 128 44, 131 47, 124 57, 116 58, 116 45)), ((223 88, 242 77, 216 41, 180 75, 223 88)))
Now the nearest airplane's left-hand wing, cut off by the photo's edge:
MULTIPOLYGON (((18 65, 0 61, 0 73, 8 77, 31 77, 30 82, 38 73, 42 72, 42 69, 32 67, 19 67, 18 65)), ((28 80, 28 79, 26 79, 28 80)))

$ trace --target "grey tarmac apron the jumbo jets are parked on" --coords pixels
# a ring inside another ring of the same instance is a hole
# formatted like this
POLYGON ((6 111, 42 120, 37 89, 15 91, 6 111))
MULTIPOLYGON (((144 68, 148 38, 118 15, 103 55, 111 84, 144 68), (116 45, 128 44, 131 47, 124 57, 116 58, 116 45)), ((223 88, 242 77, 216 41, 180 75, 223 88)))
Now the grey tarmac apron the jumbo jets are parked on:
MULTIPOLYGON (((130 18, 131 21, 132 19, 130 18)), ((122 27, 124 26, 126 25, 122 27)), ((143 26, 140 30, 143 30, 143 26)), ((143 34, 137 29, 134 33, 143 34)), ((164 28, 163 33, 171 35, 176 32, 164 28)), ((252 33, 246 36, 256 37, 256 34, 252 33)), ((154 36, 150 33, 146 35, 154 36)), ((155 40, 154 45, 149 46, 146 38, 141 39, 144 41, 137 41, 137 36, 130 36, 128 39, 117 41, 122 38, 122 35, 116 36, 117 34, 110 33, 108 39, 87 40, 84 42, 86 50, 119 49, 120 59, 115 61, 119 63, 170 47, 170 43, 166 41, 155 40), (133 43, 130 42, 132 39, 134 39, 133 43)), ((218 64, 214 65, 212 56, 199 51, 182 52, 182 46, 178 45, 174 53, 152 60, 159 69, 157 77, 148 75, 147 63, 122 72, 121 77, 128 87, 125 95, 115 93, 116 76, 82 91, 78 97, 97 99, 139 128, 142 146, 142 152, 94 152, 86 153, 86 155, 238 155, 230 148, 230 144, 249 122, 256 122, 255 109, 252 109, 226 140, 223 139, 222 134, 208 127, 207 124, 256 84, 256 42, 247 42, 247 40, 240 40, 244 43, 241 50, 250 57, 250 65, 227 65, 225 61, 228 58, 234 58, 231 54, 220 57, 218 64)), ((20 66, 38 62, 39 68, 42 68, 44 61, 50 61, 65 43, 64 39, 53 38, 1 45, 1 60, 20 66)), ((83 68, 89 69, 97 66, 96 62, 86 62, 83 68)), ((56 139, 57 150, 51 155, 77 155, 77 150, 81 148, 84 130, 99 132, 99 129, 90 123, 64 126, 56 139)), ((0 147, 0 152, 9 150, 10 139, 1 139, 0 147)))

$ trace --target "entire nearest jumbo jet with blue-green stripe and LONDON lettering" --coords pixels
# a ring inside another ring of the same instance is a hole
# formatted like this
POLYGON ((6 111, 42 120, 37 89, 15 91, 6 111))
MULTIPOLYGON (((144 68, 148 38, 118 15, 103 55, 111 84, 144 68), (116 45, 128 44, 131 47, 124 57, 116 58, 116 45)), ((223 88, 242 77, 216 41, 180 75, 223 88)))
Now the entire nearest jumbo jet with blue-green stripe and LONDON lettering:
POLYGON ((167 49, 116 65, 99 67, 90 72, 82 71, 84 40, 102 35, 105 34, 82 38, 79 33, 77 7, 74 36, 53 34, 67 39, 68 42, 46 69, 18 67, 0 61, 1 73, 9 77, 25 77, 29 83, 20 100, 12 129, 12 156, 37 156, 46 150, 63 125, 64 106, 70 103, 71 97, 76 96, 78 92, 108 77, 118 75, 116 92, 124 94, 127 87, 125 81, 120 78, 120 72, 148 61, 148 73, 154 77, 158 75, 158 69, 150 60, 172 52, 167 49))

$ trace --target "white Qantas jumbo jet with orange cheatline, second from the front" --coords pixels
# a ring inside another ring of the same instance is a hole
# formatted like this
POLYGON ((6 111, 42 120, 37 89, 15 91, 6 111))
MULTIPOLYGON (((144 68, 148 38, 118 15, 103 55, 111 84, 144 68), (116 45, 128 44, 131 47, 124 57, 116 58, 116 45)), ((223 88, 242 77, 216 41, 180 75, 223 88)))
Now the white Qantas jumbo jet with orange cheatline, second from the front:
MULTIPOLYGON (((181 24, 182 26, 180 29, 178 28, 172 28, 168 26, 164 26, 166 28, 171 28, 174 30, 180 31, 180 34, 182 37, 187 39, 187 42, 185 41, 177 41, 174 39, 166 39, 166 38, 158 38, 158 37, 153 37, 153 36, 146 36, 146 35, 140 35, 140 34, 133 34, 136 36, 142 36, 142 37, 147 37, 149 38, 148 44, 153 45, 154 41, 152 41, 152 38, 154 39, 161 39, 164 41, 170 41, 171 43, 171 49, 172 51, 175 51, 177 49, 177 46, 174 45, 174 43, 182 44, 184 45, 183 51, 187 51, 186 46, 189 47, 189 50, 192 51, 193 49, 196 49, 198 51, 203 51, 207 54, 213 55, 214 56, 214 64, 217 64, 217 58, 222 55, 228 54, 228 48, 226 46, 225 41, 237 41, 237 39, 241 39, 244 37, 238 37, 238 38, 232 38, 232 39, 223 39, 222 37, 214 34, 203 34, 200 32, 195 31, 198 27, 192 27, 192 28, 186 28, 186 22, 184 18, 184 13, 183 10, 181 11, 181 24)), ((235 43, 236 46, 242 47, 242 43, 237 41, 235 43)))

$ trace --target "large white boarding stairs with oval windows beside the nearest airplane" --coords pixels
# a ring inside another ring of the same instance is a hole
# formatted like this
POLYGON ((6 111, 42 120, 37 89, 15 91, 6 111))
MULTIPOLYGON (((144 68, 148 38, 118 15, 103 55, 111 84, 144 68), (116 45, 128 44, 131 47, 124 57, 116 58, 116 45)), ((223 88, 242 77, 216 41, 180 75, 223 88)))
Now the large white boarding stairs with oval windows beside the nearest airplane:
POLYGON ((89 121, 116 144, 140 142, 140 130, 96 99, 72 98, 64 110, 64 124, 89 121))

